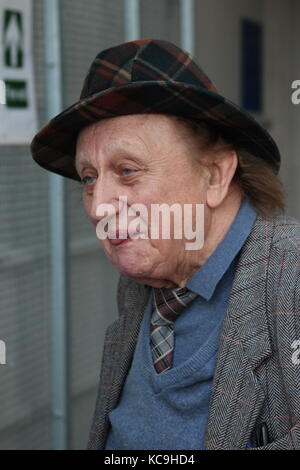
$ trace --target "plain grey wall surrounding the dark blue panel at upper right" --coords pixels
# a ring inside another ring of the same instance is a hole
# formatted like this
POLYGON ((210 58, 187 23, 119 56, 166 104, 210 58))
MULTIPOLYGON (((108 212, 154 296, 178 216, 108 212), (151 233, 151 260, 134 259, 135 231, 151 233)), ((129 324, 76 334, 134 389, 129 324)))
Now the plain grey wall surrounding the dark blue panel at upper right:
POLYGON ((300 77, 298 0, 196 0, 196 56, 219 91, 241 96, 240 21, 263 26, 263 102, 255 117, 269 130, 282 155, 280 176, 286 212, 300 219, 300 106, 291 103, 291 83, 300 77))

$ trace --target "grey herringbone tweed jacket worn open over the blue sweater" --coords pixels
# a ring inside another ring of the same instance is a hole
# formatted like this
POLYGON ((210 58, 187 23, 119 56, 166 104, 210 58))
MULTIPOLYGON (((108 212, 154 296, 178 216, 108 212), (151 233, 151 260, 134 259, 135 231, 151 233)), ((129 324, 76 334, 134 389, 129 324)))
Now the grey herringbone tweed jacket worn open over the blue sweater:
MULTIPOLYGON (((257 216, 244 243, 225 312, 205 449, 300 449, 300 222, 257 216), (298 349, 297 349, 298 348, 298 349), (255 444, 266 423, 269 440, 255 444)), ((104 449, 150 287, 121 276, 119 318, 105 337, 88 449, 104 449)))

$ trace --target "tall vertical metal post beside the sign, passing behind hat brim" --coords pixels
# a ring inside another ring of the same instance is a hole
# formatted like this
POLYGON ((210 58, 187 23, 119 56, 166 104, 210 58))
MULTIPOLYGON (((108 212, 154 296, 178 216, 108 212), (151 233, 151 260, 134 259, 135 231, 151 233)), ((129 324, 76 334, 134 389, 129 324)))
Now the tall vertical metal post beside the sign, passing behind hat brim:
MULTIPOLYGON (((48 119, 62 109, 59 3, 43 0, 48 119)), ((64 450, 69 441, 66 186, 63 177, 52 173, 49 173, 49 218, 52 436, 53 448, 64 450)))

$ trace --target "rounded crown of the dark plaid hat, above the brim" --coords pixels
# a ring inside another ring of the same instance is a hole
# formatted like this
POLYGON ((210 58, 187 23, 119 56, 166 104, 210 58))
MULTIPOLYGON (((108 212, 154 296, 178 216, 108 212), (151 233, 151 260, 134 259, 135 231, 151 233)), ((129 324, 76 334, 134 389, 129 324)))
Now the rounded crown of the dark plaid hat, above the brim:
POLYGON ((144 39, 100 52, 85 78, 80 99, 142 81, 182 82, 218 93, 189 53, 167 41, 144 39))

